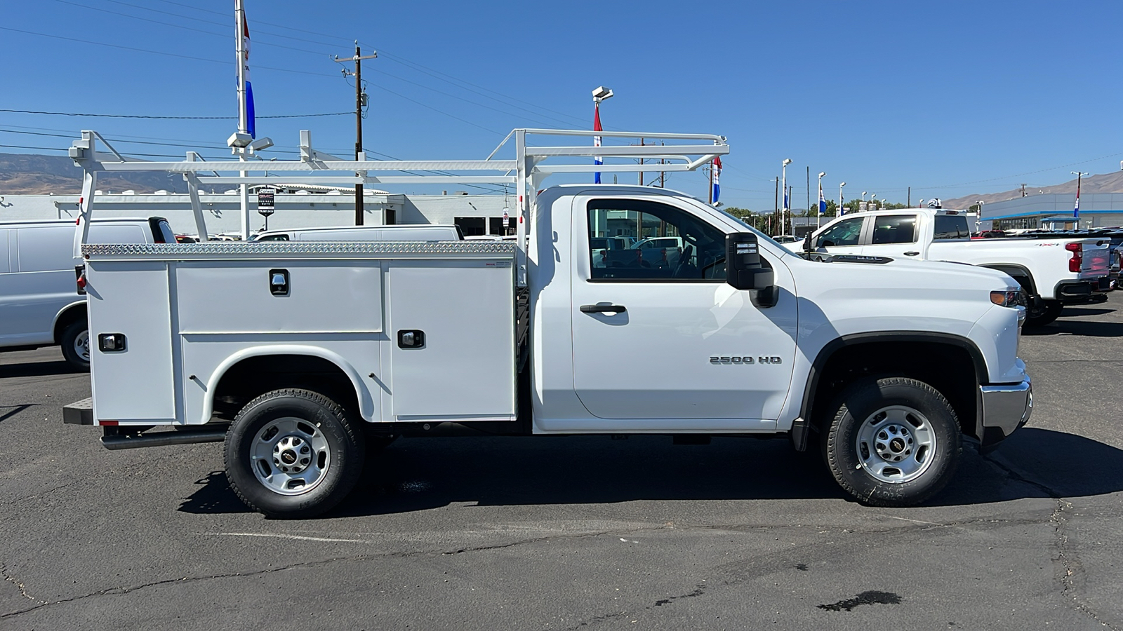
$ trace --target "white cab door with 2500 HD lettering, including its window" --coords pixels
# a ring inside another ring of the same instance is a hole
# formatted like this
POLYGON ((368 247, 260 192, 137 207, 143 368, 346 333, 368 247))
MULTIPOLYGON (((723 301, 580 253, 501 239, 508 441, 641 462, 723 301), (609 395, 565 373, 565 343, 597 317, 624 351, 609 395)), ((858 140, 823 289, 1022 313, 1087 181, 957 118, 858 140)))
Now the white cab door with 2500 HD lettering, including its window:
POLYGON ((787 268, 773 262, 788 290, 776 307, 758 309, 749 292, 725 283, 725 232, 732 229, 687 210, 690 204, 661 199, 574 201, 570 322, 577 397, 593 418, 665 420, 645 428, 736 424, 700 423, 703 419, 768 427, 787 396, 795 356, 796 301, 787 268), (609 250, 623 255, 596 260, 590 238, 609 235, 675 237, 682 246, 666 257, 628 249, 609 250))

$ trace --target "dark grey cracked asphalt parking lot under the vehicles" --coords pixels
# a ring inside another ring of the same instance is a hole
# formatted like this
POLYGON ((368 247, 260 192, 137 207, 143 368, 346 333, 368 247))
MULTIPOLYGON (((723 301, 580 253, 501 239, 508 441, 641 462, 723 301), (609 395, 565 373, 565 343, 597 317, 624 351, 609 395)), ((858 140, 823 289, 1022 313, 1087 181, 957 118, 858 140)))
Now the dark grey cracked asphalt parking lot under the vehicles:
POLYGON ((266 520, 219 445, 107 451, 88 375, 0 354, 0 629, 1123 629, 1121 307, 1026 335, 1030 424, 895 510, 780 440, 412 439, 266 520))

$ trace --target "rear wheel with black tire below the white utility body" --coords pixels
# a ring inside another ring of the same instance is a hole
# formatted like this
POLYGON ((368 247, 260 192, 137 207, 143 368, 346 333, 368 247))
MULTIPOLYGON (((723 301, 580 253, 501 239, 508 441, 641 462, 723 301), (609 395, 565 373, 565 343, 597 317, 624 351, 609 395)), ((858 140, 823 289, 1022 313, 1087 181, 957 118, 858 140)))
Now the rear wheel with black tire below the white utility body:
POLYGON ((238 412, 223 460, 235 494, 274 518, 310 518, 350 493, 364 441, 349 414, 307 390, 275 390, 238 412))

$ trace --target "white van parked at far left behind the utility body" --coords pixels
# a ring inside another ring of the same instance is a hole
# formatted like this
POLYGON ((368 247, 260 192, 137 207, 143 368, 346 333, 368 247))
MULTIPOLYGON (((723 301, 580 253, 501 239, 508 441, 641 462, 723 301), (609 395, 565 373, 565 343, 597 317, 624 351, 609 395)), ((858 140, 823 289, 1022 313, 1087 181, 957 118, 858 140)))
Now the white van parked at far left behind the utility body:
MULTIPOLYGON (((90 369, 85 295, 76 284, 73 220, 0 221, 0 351, 61 345, 74 368, 90 369)), ((174 244, 161 217, 95 220, 91 243, 174 244)))

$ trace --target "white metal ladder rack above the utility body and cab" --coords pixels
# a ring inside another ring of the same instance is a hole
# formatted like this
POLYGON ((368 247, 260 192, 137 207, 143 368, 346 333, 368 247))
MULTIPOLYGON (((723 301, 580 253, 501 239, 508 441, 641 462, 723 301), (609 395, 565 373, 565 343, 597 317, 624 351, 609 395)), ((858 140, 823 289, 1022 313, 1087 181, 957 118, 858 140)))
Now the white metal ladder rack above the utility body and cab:
MULTIPOLYGON (((82 167, 82 198, 79 202, 82 214, 81 239, 86 243, 90 219, 94 208, 94 191, 98 174, 122 171, 164 171, 180 173, 188 183, 191 210, 200 239, 207 239, 207 225, 199 188, 217 184, 279 184, 291 182, 291 175, 273 175, 280 172, 302 172, 301 181, 308 184, 355 185, 355 184, 501 184, 514 185, 518 195, 517 235, 519 244, 519 285, 527 278, 527 236, 530 218, 542 182, 555 174, 615 172, 637 173, 643 170, 634 161, 663 159, 660 171, 694 171, 709 164, 715 156, 729 154, 724 136, 709 134, 658 134, 650 131, 592 131, 581 129, 515 129, 485 158, 476 161, 368 161, 344 159, 312 148, 312 135, 300 132, 300 158, 293 161, 270 161, 258 163, 240 161, 206 162, 198 153, 188 152, 182 162, 147 162, 121 155, 97 131, 82 131, 82 137, 70 148, 70 157, 82 167), (663 140, 665 145, 643 146, 620 145, 594 147, 587 145, 533 145, 531 140, 547 137, 617 138, 620 140, 663 140), (513 138, 514 159, 499 159, 495 155, 509 147, 513 138), (101 141, 109 153, 99 152, 101 141), (576 158, 603 157, 605 164, 578 163, 576 158), (568 162, 567 162, 568 161, 568 162), (247 170, 247 167, 249 167, 247 170), (266 173, 267 170, 267 173, 266 173), (420 175, 402 175, 407 171, 424 171, 420 175), (212 175, 204 175, 212 173, 212 175), (238 173, 238 175, 222 175, 238 173), (351 173, 334 175, 332 173, 351 173), (357 175, 356 175, 357 174, 357 175)), ((360 156, 365 157, 365 156, 360 156)), ((650 168, 648 166, 648 168, 650 168)), ((77 250, 75 250, 77 253, 77 250)))

